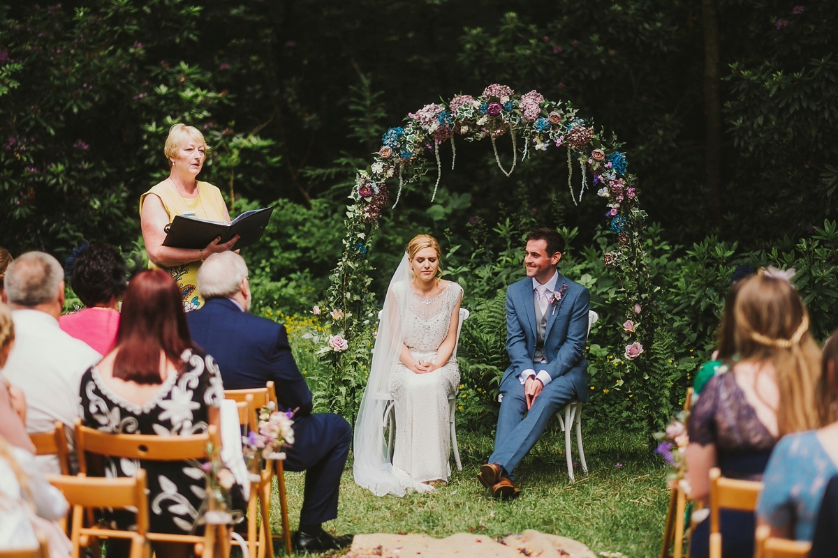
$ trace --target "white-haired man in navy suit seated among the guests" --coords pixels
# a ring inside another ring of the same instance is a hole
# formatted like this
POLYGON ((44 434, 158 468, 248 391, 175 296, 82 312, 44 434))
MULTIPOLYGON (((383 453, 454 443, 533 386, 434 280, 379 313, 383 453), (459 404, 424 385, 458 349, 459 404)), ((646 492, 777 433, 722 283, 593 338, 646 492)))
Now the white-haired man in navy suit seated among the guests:
POLYGON ((249 314, 251 289, 245 260, 235 252, 215 253, 201 265, 198 291, 206 300, 187 314, 192 338, 215 358, 225 389, 265 387, 274 381, 280 410, 297 409, 294 444, 285 468, 305 471, 306 486, 297 550, 322 552, 348 546, 352 535, 335 537, 324 521, 338 516, 338 489, 352 429, 329 413, 312 414, 312 392, 291 354, 284 325, 249 314))

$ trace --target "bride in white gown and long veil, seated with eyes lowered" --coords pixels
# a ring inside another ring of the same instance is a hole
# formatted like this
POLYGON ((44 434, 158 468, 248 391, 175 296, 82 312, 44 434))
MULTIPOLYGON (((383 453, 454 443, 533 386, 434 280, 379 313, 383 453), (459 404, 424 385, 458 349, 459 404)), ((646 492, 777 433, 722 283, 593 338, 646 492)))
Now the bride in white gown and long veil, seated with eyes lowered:
POLYGON ((355 482, 378 496, 427 492, 451 474, 448 396, 460 381, 452 355, 463 289, 439 278, 439 259, 435 238, 413 238, 381 311, 354 434, 355 482), (390 395, 396 408, 393 463, 381 423, 390 395))

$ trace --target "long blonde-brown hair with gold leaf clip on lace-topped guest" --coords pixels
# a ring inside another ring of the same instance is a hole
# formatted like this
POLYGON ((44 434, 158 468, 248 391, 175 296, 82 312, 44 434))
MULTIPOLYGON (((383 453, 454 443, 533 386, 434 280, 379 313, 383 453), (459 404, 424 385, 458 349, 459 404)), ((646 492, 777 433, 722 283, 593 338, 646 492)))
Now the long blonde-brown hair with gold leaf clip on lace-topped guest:
POLYGON ((775 270, 761 269, 742 282, 734 306, 742 361, 770 363, 779 389, 779 436, 820 426, 815 392, 820 350, 797 289, 775 270))

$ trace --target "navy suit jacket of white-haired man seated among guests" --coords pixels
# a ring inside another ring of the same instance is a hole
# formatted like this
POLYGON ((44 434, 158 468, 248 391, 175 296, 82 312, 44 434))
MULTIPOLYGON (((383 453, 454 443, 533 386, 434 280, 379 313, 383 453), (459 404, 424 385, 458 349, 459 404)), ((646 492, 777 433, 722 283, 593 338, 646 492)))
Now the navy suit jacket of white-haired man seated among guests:
POLYGON ((211 355, 225 389, 265 387, 273 381, 279 406, 312 410, 312 392, 294 362, 284 325, 242 312, 230 299, 209 299, 187 313, 192 339, 211 355))

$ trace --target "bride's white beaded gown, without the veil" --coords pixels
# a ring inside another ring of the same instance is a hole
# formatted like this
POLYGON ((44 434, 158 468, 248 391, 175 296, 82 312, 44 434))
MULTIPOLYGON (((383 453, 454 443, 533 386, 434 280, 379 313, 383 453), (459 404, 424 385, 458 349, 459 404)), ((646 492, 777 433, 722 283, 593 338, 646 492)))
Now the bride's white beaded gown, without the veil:
MULTIPOLYGON (((416 360, 435 361, 448 333, 451 313, 463 296, 463 288, 448 282, 436 298, 425 300, 405 284, 406 315, 402 322, 405 345, 416 360)), ((416 374, 401 362, 391 376, 390 390, 396 399, 396 442, 393 468, 412 480, 446 480, 451 474, 451 430, 448 426, 448 396, 460 381, 457 359, 427 374, 416 374)))

